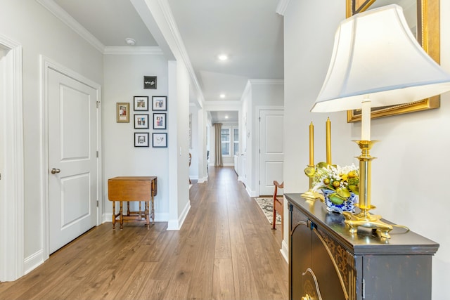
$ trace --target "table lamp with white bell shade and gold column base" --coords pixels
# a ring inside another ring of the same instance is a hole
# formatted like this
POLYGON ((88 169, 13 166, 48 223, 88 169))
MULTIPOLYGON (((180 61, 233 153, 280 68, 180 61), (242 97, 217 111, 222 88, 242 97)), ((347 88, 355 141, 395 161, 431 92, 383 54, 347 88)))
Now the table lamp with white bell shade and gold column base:
POLYGON ((359 226, 390 238, 390 224, 371 215, 371 107, 411 103, 450 91, 445 72, 418 44, 397 4, 358 13, 340 22, 333 54, 311 112, 361 109, 359 204, 345 213, 351 233, 359 226))

